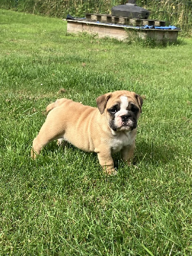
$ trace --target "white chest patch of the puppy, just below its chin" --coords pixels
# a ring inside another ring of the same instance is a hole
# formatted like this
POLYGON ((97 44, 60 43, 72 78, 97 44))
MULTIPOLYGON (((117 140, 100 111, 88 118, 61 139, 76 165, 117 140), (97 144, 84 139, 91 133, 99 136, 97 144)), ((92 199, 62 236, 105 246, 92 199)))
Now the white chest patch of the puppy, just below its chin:
POLYGON ((135 136, 132 136, 132 132, 120 132, 120 134, 114 136, 113 140, 111 140, 111 152, 116 153, 119 152, 123 147, 128 145, 132 145, 134 142, 135 136))

